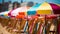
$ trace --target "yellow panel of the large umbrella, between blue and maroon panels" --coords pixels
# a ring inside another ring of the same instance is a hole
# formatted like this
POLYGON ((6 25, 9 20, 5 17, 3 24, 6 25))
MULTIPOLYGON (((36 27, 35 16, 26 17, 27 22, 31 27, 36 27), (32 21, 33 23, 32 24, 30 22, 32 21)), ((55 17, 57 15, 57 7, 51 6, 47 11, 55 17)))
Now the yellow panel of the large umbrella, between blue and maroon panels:
POLYGON ((37 14, 52 14, 52 8, 49 3, 44 2, 41 6, 37 9, 37 14))

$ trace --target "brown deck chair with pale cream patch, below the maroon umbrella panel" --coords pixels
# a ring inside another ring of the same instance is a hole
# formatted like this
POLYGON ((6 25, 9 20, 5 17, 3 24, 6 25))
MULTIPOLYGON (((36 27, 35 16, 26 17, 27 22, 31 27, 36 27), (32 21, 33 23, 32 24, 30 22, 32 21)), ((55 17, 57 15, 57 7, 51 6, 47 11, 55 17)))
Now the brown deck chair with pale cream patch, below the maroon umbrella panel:
POLYGON ((57 26, 57 16, 51 16, 51 18, 47 19, 47 34, 56 34, 56 26, 57 26), (55 21, 54 21, 55 20, 55 21))

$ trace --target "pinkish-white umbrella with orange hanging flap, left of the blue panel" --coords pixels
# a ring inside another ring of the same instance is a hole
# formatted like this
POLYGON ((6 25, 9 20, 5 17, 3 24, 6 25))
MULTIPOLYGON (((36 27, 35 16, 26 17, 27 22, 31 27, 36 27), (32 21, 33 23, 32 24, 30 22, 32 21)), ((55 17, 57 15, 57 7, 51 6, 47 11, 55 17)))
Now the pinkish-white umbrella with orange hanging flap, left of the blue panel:
POLYGON ((23 15, 27 15, 27 10, 29 7, 19 7, 10 12, 11 16, 16 16, 17 18, 23 17, 23 15))

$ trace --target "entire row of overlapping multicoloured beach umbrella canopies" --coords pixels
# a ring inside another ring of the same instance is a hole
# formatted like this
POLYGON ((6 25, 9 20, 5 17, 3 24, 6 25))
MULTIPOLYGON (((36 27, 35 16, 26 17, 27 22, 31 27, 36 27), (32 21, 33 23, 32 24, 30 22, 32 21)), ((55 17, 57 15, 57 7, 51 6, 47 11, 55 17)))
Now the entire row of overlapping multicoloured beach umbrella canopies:
POLYGON ((1 12, 0 15, 4 16, 14 16, 17 18, 23 18, 24 16, 29 15, 51 15, 51 14, 60 14, 60 6, 53 3, 44 2, 42 4, 36 4, 32 7, 19 7, 12 11, 1 12))

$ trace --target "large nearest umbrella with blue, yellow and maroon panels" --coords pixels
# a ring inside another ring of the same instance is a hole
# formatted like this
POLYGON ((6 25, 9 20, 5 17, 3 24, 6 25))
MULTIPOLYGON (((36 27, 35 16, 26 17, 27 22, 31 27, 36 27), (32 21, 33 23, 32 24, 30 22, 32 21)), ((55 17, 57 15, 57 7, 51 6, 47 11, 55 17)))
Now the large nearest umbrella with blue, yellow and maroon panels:
MULTIPOLYGON (((34 9, 35 7, 33 7, 34 9)), ((31 13, 33 15, 35 14, 43 14, 43 15, 46 15, 46 14, 60 14, 60 6, 56 5, 56 4, 52 4, 52 3, 47 3, 47 2, 44 2, 42 3, 41 5, 38 6, 38 8, 36 8, 36 10, 33 10, 33 9, 30 9, 28 10, 27 14, 28 15, 31 15, 31 13), (35 14, 33 13, 35 12, 35 14)))

